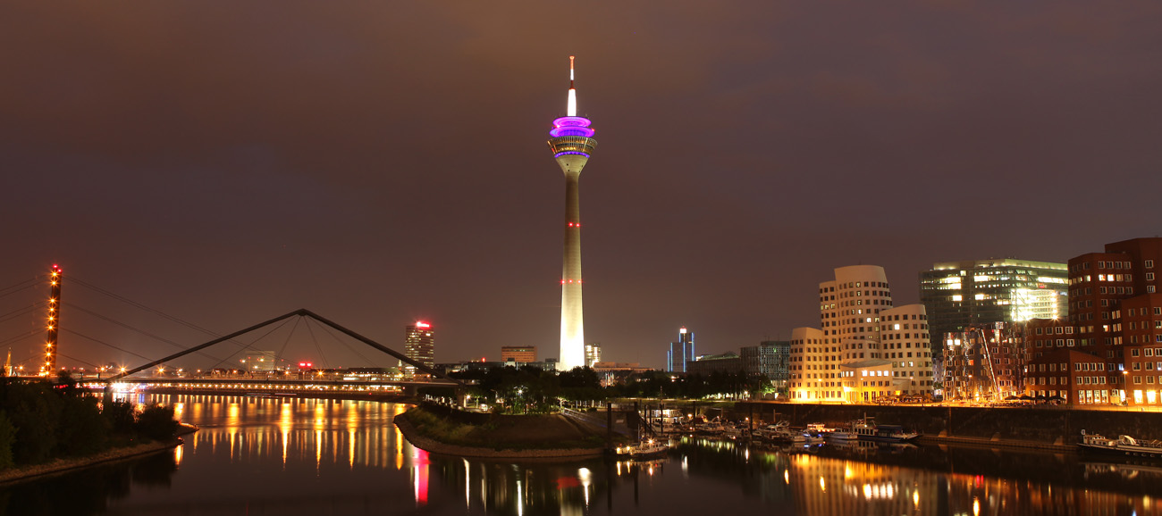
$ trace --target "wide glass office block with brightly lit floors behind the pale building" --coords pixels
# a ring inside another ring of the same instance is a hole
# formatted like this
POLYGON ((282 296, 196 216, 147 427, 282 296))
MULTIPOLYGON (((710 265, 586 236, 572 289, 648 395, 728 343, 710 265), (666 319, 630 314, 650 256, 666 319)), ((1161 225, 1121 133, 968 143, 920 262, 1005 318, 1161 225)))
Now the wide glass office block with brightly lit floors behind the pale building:
POLYGON ((920 303, 928 313, 932 349, 946 333, 996 322, 1063 318, 1069 310, 1064 263, 1032 260, 941 262, 920 272, 920 303))

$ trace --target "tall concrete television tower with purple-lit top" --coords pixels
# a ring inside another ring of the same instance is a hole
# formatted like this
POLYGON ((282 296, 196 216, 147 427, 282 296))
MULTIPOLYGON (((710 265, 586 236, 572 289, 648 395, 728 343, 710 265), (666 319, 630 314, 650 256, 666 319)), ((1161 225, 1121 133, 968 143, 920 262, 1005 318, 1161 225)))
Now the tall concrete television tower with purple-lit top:
POLYGON ((569 56, 569 99, 565 116, 553 121, 548 150, 565 173, 565 263, 561 269, 561 356, 558 369, 584 366, 584 318, 581 310, 581 169, 589 161, 594 130, 589 118, 578 116, 578 93, 573 88, 573 56, 569 56))

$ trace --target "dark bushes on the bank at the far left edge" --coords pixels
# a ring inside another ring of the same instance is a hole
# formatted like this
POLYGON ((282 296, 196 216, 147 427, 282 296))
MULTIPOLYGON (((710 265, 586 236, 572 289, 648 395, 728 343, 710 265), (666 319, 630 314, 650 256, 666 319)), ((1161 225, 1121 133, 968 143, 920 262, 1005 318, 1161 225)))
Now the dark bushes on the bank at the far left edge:
POLYGON ((0 377, 0 468, 163 441, 177 430, 173 408, 101 404, 67 373, 56 381, 0 377))

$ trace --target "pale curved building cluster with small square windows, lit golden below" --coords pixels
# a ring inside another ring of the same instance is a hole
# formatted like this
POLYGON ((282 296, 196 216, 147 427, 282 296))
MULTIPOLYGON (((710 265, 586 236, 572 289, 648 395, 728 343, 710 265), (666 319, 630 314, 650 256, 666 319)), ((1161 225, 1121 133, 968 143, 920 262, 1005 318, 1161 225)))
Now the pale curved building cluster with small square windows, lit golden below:
POLYGON ((923 305, 892 307, 882 267, 835 269, 819 284, 823 329, 791 333, 790 398, 866 402, 932 394, 932 350, 923 305))

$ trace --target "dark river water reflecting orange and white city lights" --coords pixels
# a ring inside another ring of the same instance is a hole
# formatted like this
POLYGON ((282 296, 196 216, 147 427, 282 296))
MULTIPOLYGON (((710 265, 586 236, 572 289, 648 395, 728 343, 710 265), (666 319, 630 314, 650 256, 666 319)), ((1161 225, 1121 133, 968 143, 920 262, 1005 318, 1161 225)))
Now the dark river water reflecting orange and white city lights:
POLYGON ((344 400, 142 397, 201 430, 172 452, 0 488, 3 515, 1162 515, 1162 467, 946 446, 510 463, 429 455, 344 400))

